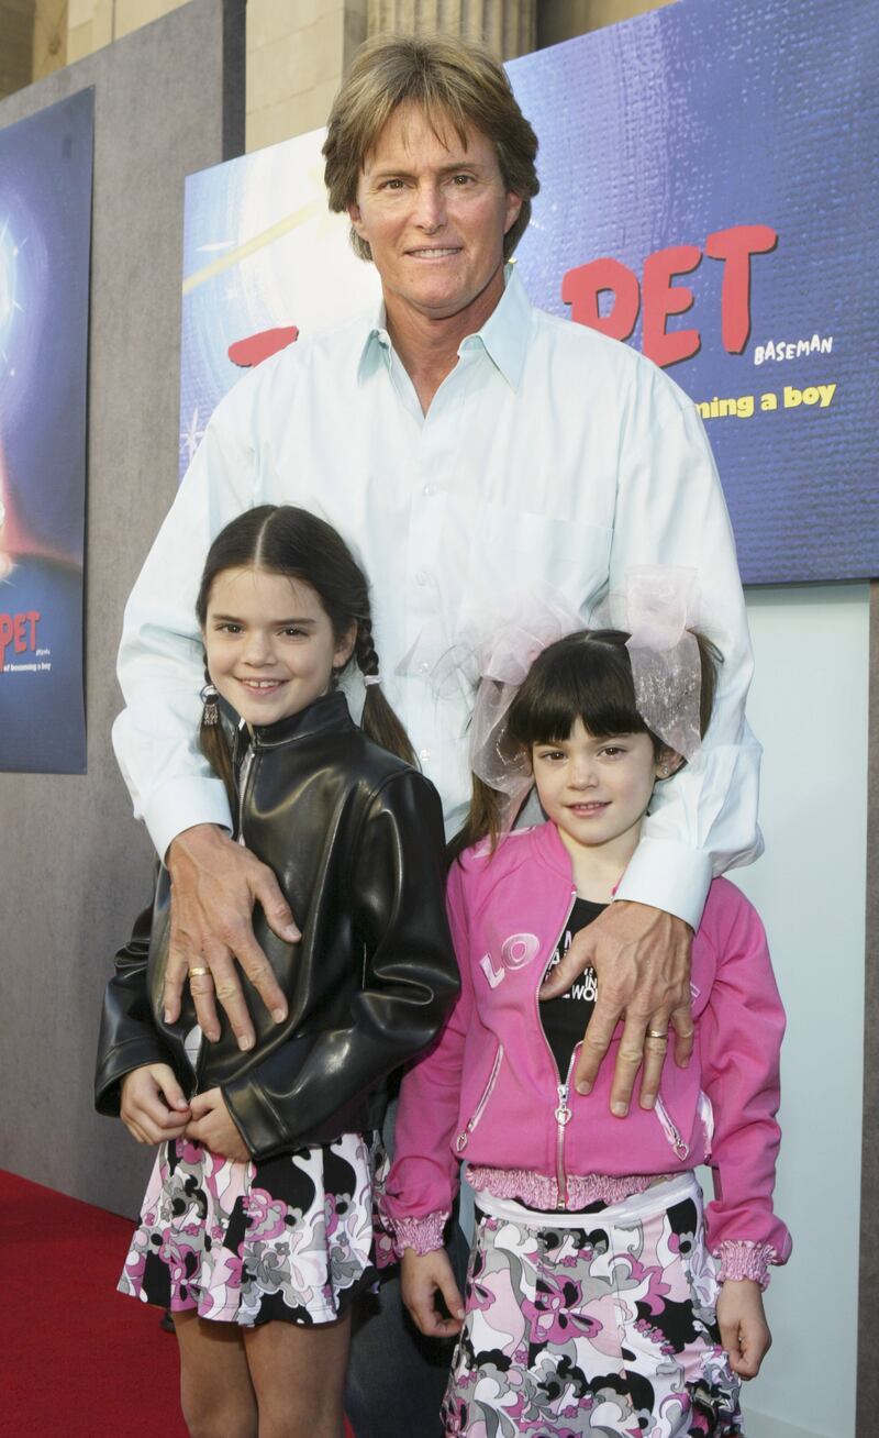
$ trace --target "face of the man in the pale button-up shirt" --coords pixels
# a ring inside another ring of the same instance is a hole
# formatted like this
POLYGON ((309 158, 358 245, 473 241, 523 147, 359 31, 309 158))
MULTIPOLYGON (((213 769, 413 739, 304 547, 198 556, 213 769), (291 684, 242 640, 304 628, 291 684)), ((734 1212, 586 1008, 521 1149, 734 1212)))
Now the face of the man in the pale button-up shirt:
POLYGON ((418 106, 401 105, 366 157, 349 214, 372 250, 391 319, 473 308, 481 324, 485 296, 490 313, 503 292, 504 234, 521 198, 504 188, 487 135, 468 129, 462 145, 442 116, 437 131, 418 106))

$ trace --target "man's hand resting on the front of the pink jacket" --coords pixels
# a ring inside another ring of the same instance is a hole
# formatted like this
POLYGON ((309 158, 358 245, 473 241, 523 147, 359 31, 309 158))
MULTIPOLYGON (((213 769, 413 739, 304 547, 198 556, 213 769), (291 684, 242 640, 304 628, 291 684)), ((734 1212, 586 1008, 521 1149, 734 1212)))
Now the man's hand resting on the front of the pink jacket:
POLYGON ((669 1025, 675 1061, 685 1067, 692 1053, 689 951, 692 929, 662 909, 619 900, 575 935, 570 949, 540 989, 557 998, 583 969, 597 975, 597 998, 583 1037, 575 1074, 577 1093, 590 1093, 613 1030, 625 1021, 616 1055, 610 1112, 623 1119, 641 1064, 641 1107, 652 1109, 659 1091, 669 1025))

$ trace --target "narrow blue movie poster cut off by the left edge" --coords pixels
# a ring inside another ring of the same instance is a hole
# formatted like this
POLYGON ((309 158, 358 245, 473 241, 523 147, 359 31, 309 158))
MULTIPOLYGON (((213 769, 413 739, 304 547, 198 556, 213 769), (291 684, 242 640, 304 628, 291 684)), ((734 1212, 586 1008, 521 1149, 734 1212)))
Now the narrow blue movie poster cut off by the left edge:
POLYGON ((93 92, 0 129, 0 769, 85 774, 93 92))

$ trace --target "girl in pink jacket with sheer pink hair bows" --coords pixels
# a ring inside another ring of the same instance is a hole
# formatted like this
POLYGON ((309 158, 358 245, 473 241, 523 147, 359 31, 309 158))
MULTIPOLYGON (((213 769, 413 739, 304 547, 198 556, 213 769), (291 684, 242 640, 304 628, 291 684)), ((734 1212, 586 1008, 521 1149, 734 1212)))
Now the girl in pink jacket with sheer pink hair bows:
POLYGON ((714 660, 684 628, 661 650, 579 631, 520 687, 483 680, 483 778, 448 883, 461 997, 404 1080, 385 1195, 412 1317, 460 1334, 447 1435, 743 1431, 740 1379, 771 1342, 761 1290, 790 1252, 773 1212, 784 1012, 760 919, 712 883, 692 946, 694 1055, 665 1064, 654 1109, 613 1117, 613 1057, 590 1094, 573 1087, 590 969, 540 1002, 572 935, 612 900, 654 785, 698 762, 714 660), (531 781, 546 823, 504 834, 531 781), (462 1160, 478 1219, 464 1299, 442 1248, 462 1160), (714 1169, 705 1212, 699 1163, 714 1169))

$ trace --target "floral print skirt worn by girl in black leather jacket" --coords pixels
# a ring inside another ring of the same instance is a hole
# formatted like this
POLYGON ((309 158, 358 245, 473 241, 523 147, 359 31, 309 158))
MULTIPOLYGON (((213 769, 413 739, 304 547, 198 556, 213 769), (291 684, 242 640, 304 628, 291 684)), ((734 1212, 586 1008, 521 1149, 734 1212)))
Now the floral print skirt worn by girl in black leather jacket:
POLYGON ((386 1166, 379 1135, 250 1163, 164 1143, 119 1290, 227 1323, 332 1323, 378 1281, 372 1186, 386 1166))

